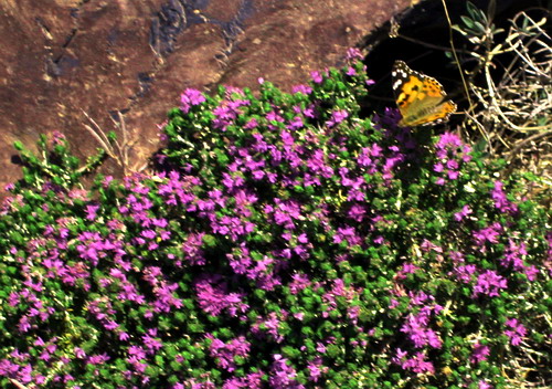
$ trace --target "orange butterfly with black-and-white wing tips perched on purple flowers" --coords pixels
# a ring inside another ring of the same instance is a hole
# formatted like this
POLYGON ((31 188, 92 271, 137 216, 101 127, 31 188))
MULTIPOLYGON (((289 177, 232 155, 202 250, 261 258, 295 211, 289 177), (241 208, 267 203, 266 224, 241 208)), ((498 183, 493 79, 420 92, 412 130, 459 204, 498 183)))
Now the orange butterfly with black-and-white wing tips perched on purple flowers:
POLYGON ((437 80, 413 71, 403 61, 395 61, 391 75, 396 105, 403 117, 400 126, 443 123, 456 112, 456 104, 446 99, 447 94, 437 80))

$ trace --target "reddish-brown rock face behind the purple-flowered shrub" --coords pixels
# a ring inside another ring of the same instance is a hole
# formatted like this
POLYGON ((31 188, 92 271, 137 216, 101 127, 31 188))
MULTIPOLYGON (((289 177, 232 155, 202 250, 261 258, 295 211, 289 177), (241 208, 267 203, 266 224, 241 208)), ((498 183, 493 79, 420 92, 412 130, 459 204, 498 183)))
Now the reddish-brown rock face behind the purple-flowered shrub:
MULTIPOLYGON (((3 0, 0 186, 20 177, 12 144, 60 130, 85 157, 124 115, 130 169, 159 147, 157 125, 187 87, 284 90, 339 63, 408 0, 3 0)), ((104 172, 120 175, 114 162, 104 172)))

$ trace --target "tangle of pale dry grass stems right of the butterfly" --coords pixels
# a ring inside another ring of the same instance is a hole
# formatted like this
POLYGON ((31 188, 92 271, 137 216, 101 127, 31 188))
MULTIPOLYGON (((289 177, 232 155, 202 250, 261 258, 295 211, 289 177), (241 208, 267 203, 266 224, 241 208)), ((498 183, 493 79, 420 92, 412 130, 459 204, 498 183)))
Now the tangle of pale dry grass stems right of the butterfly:
POLYGON ((552 198, 552 12, 544 9, 518 13, 503 31, 491 15, 471 14, 479 23, 455 29, 473 44, 464 63, 476 63, 467 73, 470 107, 463 129, 467 138, 486 141, 486 151, 503 158, 512 171, 528 172, 538 182, 528 195, 550 203, 552 198), (537 15, 537 17, 535 17, 537 15), (478 139, 479 138, 479 139, 478 139), (546 200, 548 198, 548 200, 546 200))

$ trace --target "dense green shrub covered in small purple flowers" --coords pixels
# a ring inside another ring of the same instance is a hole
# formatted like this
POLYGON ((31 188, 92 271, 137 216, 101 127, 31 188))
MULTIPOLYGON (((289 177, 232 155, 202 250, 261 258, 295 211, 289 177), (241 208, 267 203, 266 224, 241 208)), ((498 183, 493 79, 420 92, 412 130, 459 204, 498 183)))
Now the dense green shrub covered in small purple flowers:
POLYGON ((361 63, 312 80, 187 90, 157 172, 89 191, 42 144, 0 210, 1 386, 542 380, 552 235, 522 179, 394 111, 360 118, 361 63))

